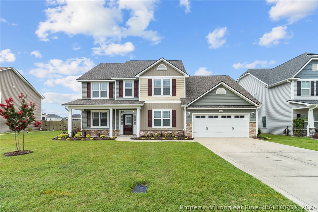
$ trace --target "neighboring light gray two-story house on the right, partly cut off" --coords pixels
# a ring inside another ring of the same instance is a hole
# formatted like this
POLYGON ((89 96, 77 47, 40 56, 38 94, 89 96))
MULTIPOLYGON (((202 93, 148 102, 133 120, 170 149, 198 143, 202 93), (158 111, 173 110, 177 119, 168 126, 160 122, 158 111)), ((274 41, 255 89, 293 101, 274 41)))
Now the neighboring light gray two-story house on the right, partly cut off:
POLYGON ((237 82, 262 102, 262 132, 283 134, 296 117, 305 118, 307 136, 318 130, 318 54, 304 53, 273 69, 248 69, 237 82))

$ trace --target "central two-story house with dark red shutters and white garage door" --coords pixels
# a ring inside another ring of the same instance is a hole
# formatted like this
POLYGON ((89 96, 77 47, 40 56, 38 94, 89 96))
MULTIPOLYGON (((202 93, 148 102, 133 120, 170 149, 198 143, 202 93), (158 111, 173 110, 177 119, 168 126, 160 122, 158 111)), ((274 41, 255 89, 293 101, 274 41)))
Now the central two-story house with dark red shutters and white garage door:
POLYGON ((101 63, 77 81, 82 98, 62 106, 69 119, 81 110, 82 128, 93 135, 256 136, 261 103, 230 76, 190 76, 181 60, 101 63))

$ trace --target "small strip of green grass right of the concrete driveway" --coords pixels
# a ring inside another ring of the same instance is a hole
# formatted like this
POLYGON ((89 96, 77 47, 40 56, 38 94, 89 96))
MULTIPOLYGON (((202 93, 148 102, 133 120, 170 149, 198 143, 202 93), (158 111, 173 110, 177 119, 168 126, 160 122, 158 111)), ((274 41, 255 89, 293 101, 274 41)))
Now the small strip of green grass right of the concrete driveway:
POLYGON ((272 140, 267 140, 270 142, 318 151, 318 140, 315 140, 315 139, 311 139, 307 137, 293 137, 293 136, 271 135, 271 134, 263 134, 263 133, 260 136, 261 137, 266 136, 266 137, 272 138, 272 140))

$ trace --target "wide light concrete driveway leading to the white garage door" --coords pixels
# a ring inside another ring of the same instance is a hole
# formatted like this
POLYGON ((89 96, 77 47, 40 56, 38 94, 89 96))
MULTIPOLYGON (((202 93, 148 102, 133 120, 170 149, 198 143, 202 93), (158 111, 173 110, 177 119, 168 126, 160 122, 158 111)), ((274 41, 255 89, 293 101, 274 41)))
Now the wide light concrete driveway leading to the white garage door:
POLYGON ((295 203, 318 207, 317 151, 253 138, 195 140, 295 203))

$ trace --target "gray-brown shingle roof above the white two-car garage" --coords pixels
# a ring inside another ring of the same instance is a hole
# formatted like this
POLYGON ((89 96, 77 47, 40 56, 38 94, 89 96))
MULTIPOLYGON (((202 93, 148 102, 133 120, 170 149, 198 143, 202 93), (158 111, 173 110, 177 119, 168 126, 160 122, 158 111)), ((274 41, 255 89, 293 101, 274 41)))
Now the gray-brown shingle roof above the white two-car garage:
POLYGON ((210 90, 220 82, 224 82, 240 94, 249 98, 257 104, 261 104, 257 99, 248 93, 242 86, 239 85, 230 76, 190 76, 186 79, 186 98, 181 98, 182 104, 188 104, 195 100, 206 91, 210 90))

